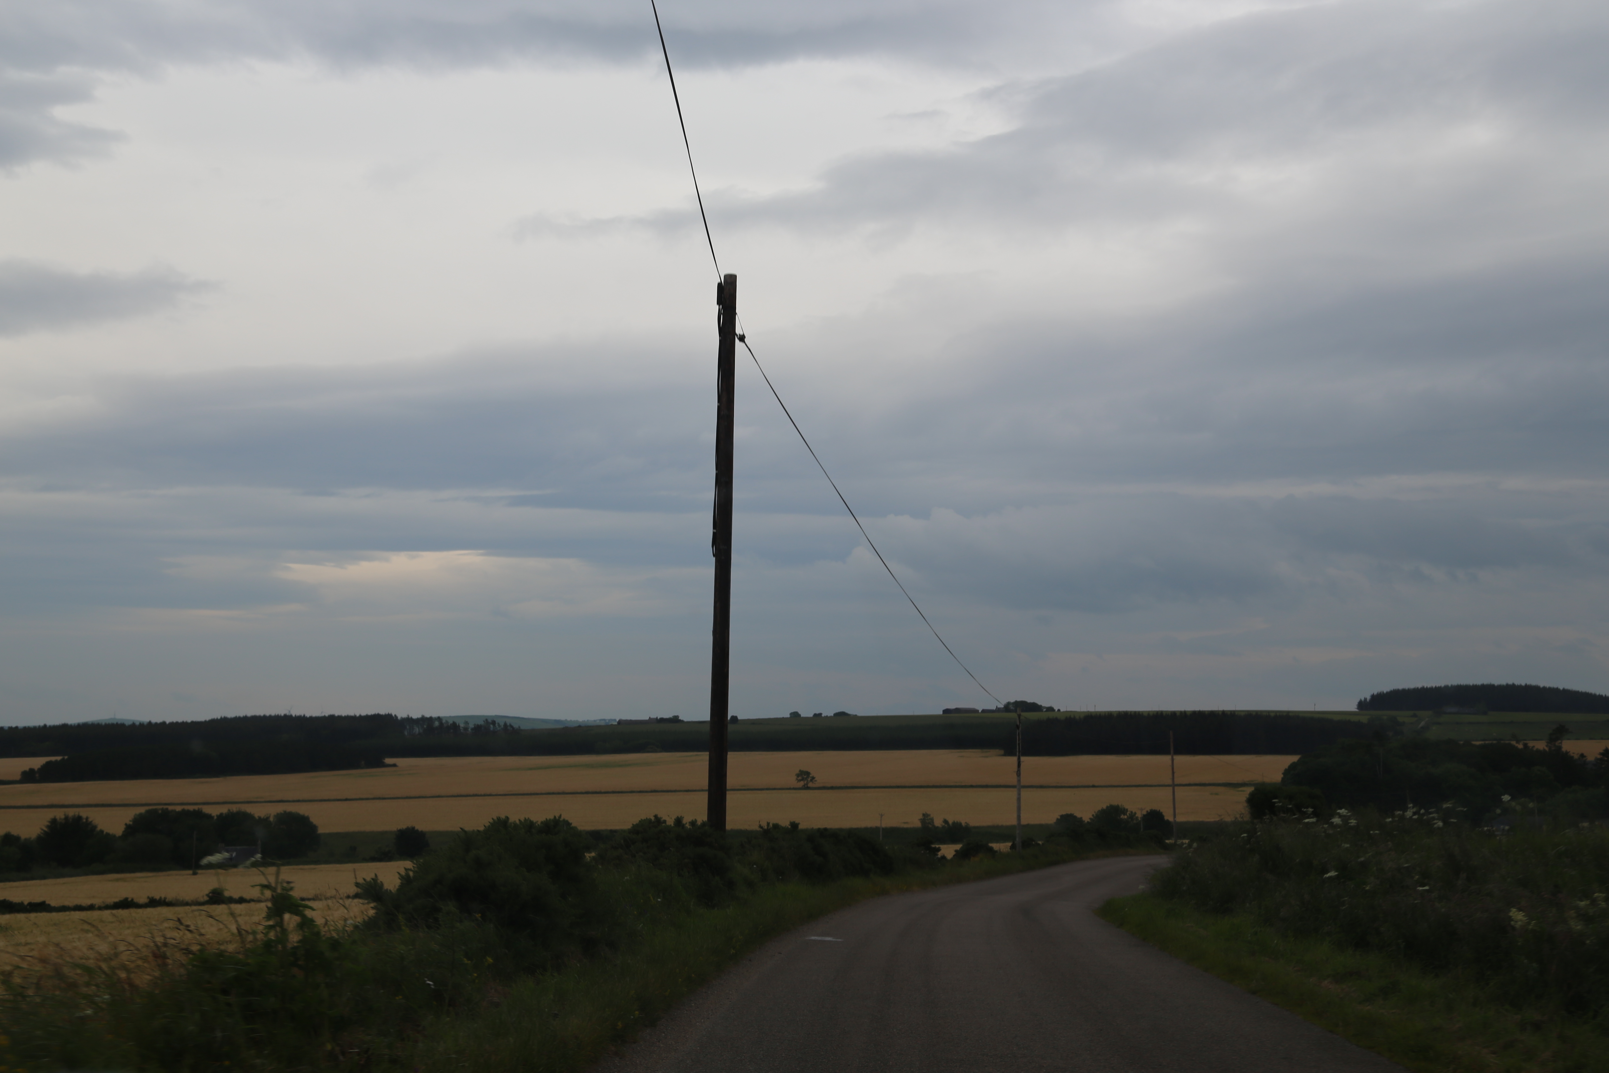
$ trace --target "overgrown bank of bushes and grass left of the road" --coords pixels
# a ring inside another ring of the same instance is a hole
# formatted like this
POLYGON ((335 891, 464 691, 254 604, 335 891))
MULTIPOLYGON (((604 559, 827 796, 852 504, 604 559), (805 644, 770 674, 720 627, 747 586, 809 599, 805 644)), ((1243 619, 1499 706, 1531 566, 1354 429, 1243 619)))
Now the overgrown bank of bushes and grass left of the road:
POLYGON ((766 939, 864 898, 1084 856, 1155 851, 1084 832, 941 862, 850 832, 719 835, 655 817, 602 845, 494 820, 423 857, 373 914, 320 928, 269 878, 259 928, 0 983, 5 1063, 27 1070, 582 1070, 766 939))

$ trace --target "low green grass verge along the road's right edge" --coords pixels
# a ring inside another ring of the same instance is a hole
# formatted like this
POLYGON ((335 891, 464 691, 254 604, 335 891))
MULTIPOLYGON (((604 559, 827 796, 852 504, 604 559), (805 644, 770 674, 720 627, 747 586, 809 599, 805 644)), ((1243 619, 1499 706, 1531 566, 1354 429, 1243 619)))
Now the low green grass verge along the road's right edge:
POLYGON ((1136 938, 1418 1073, 1609 1070, 1609 1036, 1546 1009, 1516 1009, 1477 983, 1387 954, 1279 935, 1134 894, 1099 915, 1136 938))

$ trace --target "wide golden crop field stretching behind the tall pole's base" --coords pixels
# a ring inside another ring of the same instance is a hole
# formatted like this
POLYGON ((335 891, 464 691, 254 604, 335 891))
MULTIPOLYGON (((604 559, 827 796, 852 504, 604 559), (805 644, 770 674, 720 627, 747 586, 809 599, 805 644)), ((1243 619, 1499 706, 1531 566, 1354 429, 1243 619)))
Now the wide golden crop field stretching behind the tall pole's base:
MULTIPOLYGON (((1220 819, 1245 800, 1244 783, 1278 780, 1292 756, 1181 756, 1179 819, 1220 819), (1200 785, 1187 785, 1200 783, 1200 785)), ((470 756, 402 759, 396 767, 302 775, 27 783, 0 787, 0 830, 32 833, 63 811, 119 830, 143 808, 201 806, 256 812, 296 809, 325 830, 479 827, 494 816, 566 816, 581 827, 624 827, 655 812, 703 816, 703 753, 613 756, 470 756)), ((911 825, 922 812, 1002 824, 1015 817, 1015 759, 985 751, 734 753, 734 827, 911 825), (798 790, 793 774, 819 780, 798 790)), ((1088 816, 1117 801, 1168 804, 1167 756, 1035 756, 1023 761, 1023 819, 1088 816)), ((3 890, 8 885, 0 885, 3 890)), ((3 894, 0 894, 3 896, 3 894)))

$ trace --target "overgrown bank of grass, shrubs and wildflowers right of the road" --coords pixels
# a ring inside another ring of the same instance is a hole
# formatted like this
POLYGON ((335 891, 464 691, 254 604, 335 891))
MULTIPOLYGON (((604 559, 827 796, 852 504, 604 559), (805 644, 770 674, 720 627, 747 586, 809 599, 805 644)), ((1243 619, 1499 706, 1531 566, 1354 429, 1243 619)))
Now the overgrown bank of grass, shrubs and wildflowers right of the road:
POLYGON ((1609 830, 1459 816, 1224 825, 1101 912, 1413 1070, 1609 1070, 1609 830))

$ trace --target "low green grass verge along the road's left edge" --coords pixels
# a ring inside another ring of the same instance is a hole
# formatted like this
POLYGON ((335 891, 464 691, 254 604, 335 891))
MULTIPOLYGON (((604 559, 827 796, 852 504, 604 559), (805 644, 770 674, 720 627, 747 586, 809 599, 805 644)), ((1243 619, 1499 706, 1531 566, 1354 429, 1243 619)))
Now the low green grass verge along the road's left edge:
POLYGON ((671 1007, 745 956, 800 925, 869 898, 970 883, 1093 857, 1113 849, 980 857, 932 872, 850 878, 825 886, 761 888, 724 909, 700 909, 636 949, 528 976, 500 1002, 426 1020, 396 1055, 396 1068, 484 1073, 573 1073, 629 1042, 671 1007))

